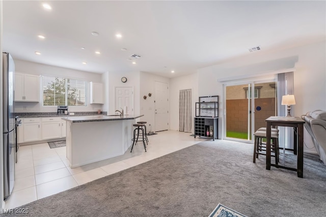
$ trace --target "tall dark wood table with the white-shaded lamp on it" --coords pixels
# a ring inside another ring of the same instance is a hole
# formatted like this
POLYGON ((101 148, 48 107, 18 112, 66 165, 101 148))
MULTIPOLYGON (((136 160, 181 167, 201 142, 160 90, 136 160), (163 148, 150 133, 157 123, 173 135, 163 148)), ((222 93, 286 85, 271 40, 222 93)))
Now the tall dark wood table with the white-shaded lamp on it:
POLYGON ((303 178, 304 170, 304 123, 305 121, 298 117, 275 117, 271 116, 266 120, 266 170, 270 167, 277 167, 297 172, 297 177, 303 178), (284 167, 281 165, 270 164, 270 128, 276 126, 293 127, 294 131, 294 150, 297 147, 297 168, 284 167), (296 139, 297 137, 297 139, 296 139))

